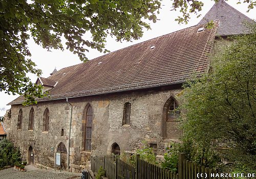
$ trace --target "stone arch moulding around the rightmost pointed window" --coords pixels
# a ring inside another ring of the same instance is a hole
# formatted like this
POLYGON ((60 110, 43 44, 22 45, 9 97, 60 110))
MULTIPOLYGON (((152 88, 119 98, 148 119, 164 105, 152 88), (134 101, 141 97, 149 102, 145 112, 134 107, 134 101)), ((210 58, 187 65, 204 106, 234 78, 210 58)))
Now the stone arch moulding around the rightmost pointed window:
POLYGON ((167 129, 166 129, 167 110, 170 102, 172 101, 175 101, 178 104, 178 106, 180 106, 180 102, 175 98, 174 94, 171 94, 170 97, 167 99, 167 101, 164 103, 163 113, 162 113, 162 130, 161 130, 161 136, 163 138, 167 137, 167 129))

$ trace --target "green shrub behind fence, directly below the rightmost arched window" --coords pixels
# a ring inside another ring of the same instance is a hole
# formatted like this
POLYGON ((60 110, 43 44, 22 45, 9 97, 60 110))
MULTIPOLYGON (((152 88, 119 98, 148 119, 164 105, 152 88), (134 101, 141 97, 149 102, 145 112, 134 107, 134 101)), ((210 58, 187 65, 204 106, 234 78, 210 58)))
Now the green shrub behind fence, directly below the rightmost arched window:
POLYGON ((170 147, 166 148, 164 153, 164 161, 162 162, 162 168, 169 169, 170 171, 178 171, 178 159, 179 159, 179 144, 171 143, 170 147))

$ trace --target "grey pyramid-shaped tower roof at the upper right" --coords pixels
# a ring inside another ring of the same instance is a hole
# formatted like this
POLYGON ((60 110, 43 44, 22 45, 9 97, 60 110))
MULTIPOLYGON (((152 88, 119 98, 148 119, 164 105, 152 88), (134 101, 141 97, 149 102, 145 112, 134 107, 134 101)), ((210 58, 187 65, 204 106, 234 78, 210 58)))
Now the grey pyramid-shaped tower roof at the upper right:
POLYGON ((217 19, 219 19, 219 28, 217 30, 217 35, 219 36, 249 33, 250 30, 246 27, 245 23, 255 23, 254 20, 229 6, 224 0, 219 0, 206 13, 198 25, 217 19))

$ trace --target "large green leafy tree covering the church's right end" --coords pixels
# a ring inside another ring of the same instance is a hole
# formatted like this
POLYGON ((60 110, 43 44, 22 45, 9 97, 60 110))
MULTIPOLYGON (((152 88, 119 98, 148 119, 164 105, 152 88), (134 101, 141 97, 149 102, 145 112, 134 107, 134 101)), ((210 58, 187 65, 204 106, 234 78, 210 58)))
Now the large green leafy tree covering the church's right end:
POLYGON ((233 164, 256 168, 256 26, 252 29, 232 39, 214 59, 212 72, 185 86, 183 139, 193 142, 204 162, 216 151, 233 164), (216 140, 226 149, 218 151, 216 140))

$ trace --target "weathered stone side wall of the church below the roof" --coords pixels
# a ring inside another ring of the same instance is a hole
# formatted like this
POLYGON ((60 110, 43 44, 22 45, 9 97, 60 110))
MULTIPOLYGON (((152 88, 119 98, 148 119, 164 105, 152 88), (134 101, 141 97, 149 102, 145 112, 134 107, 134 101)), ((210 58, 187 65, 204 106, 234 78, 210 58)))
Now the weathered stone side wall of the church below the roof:
MULTIPOLYGON (((70 139, 70 171, 80 172, 90 167, 91 154, 111 153, 112 144, 117 143, 121 151, 131 151, 142 141, 156 143, 161 150, 166 142, 177 140, 179 131, 174 124, 167 123, 167 137, 161 137, 162 113, 165 102, 180 93, 180 85, 170 89, 116 93, 101 96, 69 99, 73 106, 70 139), (130 125, 122 125, 123 107, 131 103, 130 125), (93 108, 92 151, 82 151, 81 121, 84 107, 90 103, 93 108)), ((34 163, 54 168, 55 152, 60 142, 69 150, 69 127, 71 105, 66 99, 39 102, 36 105, 13 105, 11 118, 6 120, 8 138, 22 151, 23 159, 28 159, 29 147, 33 147, 34 163), (29 112, 34 108, 34 128, 28 130, 29 112), (17 129, 20 108, 23 110, 22 129, 17 129), (42 118, 49 109, 49 131, 42 131, 42 118), (61 136, 63 129, 63 136, 61 136)), ((63 160, 63 159, 62 159, 63 160)), ((62 161, 63 162, 63 161, 62 161)), ((63 162, 64 163, 64 162, 63 162)), ((68 163, 68 162, 67 162, 68 163)), ((66 163, 66 168, 67 168, 66 163)), ((64 165, 65 166, 65 165, 64 165)))

